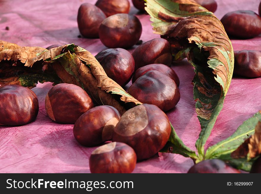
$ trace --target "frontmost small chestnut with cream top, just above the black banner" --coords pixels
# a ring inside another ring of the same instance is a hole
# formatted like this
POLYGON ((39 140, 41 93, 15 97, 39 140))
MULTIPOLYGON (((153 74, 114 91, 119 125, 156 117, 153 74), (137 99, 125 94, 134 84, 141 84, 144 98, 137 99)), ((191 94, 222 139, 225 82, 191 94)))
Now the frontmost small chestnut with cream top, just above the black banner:
POLYGON ((136 162, 134 150, 120 142, 98 147, 89 159, 91 173, 131 173, 136 162))

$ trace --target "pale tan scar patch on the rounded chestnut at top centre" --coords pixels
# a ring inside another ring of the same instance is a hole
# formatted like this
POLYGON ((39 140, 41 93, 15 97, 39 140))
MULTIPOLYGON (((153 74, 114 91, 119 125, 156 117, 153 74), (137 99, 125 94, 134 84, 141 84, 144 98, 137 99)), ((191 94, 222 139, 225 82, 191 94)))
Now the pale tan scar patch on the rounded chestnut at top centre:
POLYGON ((104 20, 102 24, 107 26, 108 28, 123 28, 128 25, 129 17, 128 15, 112 15, 110 16, 111 21, 114 22, 106 22, 107 20, 104 20))

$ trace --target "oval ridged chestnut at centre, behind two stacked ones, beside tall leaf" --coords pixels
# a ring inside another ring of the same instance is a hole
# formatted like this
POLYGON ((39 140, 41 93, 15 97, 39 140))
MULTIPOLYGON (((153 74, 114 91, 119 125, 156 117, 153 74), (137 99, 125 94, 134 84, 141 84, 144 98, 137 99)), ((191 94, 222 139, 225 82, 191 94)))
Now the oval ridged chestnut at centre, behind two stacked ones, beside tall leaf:
POLYGON ((172 61, 170 44, 163 38, 155 38, 141 44, 134 50, 132 56, 135 61, 135 71, 153 63, 170 66, 172 61))

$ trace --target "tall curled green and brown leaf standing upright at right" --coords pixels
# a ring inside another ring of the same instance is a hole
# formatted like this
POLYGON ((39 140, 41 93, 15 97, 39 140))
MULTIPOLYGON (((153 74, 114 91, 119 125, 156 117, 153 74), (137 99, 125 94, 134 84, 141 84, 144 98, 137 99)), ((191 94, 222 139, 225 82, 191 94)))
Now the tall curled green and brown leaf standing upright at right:
POLYGON ((190 0, 146 0, 155 33, 167 39, 176 60, 195 68, 194 99, 201 125, 196 142, 200 160, 222 110, 234 67, 233 47, 216 16, 190 0))

